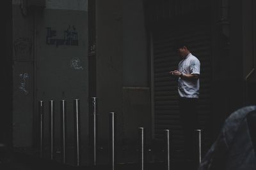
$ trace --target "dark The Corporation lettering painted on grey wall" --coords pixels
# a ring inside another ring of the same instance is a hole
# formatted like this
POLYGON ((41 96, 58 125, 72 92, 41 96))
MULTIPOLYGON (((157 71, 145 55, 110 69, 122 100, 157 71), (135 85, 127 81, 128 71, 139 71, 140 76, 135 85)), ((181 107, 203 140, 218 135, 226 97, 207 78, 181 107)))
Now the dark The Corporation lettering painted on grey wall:
POLYGON ((76 45, 78 46, 78 33, 76 31, 76 27, 69 25, 67 30, 63 32, 63 39, 56 38, 57 31, 52 30, 51 27, 46 27, 47 36, 46 36, 46 44, 47 45, 76 45))

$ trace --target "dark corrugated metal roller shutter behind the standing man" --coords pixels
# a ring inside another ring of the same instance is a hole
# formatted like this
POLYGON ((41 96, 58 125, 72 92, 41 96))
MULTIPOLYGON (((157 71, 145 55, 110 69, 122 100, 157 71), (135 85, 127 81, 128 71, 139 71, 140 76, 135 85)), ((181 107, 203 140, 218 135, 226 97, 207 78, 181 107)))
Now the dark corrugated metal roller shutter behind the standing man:
MULTIPOLYGON (((179 117, 177 79, 169 71, 177 69, 180 57, 172 50, 175 40, 185 39, 193 55, 201 62, 199 118, 206 129, 211 114, 211 31, 207 25, 189 25, 179 30, 153 32, 154 44, 154 100, 155 138, 163 138, 163 129, 172 131, 175 148, 183 148, 184 137, 179 117), (189 28, 189 29, 188 29, 189 28), (175 40, 174 40, 175 39, 175 40)), ((205 143, 209 143, 209 132, 205 131, 205 143)))

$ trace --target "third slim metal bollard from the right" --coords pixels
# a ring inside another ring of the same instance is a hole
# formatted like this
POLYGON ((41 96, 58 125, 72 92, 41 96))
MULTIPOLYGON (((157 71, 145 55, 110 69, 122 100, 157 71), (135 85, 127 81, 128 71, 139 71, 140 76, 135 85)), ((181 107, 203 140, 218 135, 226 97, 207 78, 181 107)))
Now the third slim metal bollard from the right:
POLYGON ((145 169, 145 129, 139 127, 139 169, 145 169))

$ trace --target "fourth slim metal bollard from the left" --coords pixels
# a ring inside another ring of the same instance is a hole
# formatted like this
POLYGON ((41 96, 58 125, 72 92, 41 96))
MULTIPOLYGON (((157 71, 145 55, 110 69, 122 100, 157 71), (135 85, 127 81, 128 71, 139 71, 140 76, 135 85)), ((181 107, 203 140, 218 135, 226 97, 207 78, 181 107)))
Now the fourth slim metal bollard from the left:
POLYGON ((74 132, 75 132, 75 164, 80 166, 81 158, 81 134, 80 134, 80 101, 79 99, 74 100, 74 132))

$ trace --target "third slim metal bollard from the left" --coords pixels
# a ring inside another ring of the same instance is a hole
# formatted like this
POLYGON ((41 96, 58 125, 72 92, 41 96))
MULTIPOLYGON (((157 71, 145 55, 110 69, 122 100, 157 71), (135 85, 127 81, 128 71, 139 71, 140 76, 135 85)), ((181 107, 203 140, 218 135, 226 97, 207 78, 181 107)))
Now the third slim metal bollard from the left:
POLYGON ((67 162, 66 159, 66 150, 67 150, 67 102, 65 100, 61 100, 60 101, 60 110, 61 110, 61 114, 60 114, 60 124, 61 124, 61 162, 63 164, 65 164, 67 162))

